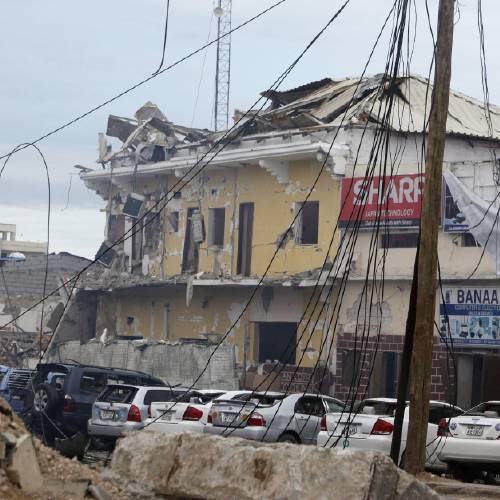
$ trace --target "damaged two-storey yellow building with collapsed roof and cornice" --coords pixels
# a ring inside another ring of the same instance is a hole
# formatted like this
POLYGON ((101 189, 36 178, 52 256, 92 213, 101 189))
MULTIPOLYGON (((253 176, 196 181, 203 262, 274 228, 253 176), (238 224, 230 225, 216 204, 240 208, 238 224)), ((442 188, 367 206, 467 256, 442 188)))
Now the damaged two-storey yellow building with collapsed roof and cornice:
MULTIPOLYGON (((326 78, 266 92, 269 107, 249 113, 221 143, 223 133, 178 126, 152 103, 134 119, 111 115, 106 135, 99 137, 102 168, 80 174, 104 200, 107 214, 98 252, 107 271, 92 289, 96 331, 156 341, 224 340, 234 346, 240 383, 250 387, 277 362, 288 368, 276 387, 286 387, 299 365, 290 389, 302 390, 313 372, 318 375, 315 367, 324 366, 329 375, 322 376, 322 389, 345 397, 359 366, 353 346, 373 245, 370 220, 362 223, 349 269, 340 271, 349 271, 349 282, 338 314, 338 290, 317 295, 316 285, 336 286, 331 270, 341 237, 351 230, 344 214, 352 202, 346 182, 352 185, 365 171, 390 96, 398 103, 389 117, 389 150, 399 158, 395 178, 404 177, 408 203, 418 202, 427 88, 416 76, 398 78, 393 86, 376 76, 326 78), (106 136, 119 139, 120 148, 113 150, 106 136), (301 321, 311 297, 320 308, 311 321, 307 311, 301 321), (332 339, 333 349, 321 348, 332 339)), ((495 124, 497 113, 495 108, 495 124)), ((491 173, 498 146, 494 132, 492 137, 479 102, 452 93, 445 164, 459 177, 473 178, 472 187, 489 189, 487 199, 496 192, 491 175, 484 174, 491 173)), ((386 292, 371 304, 366 348, 373 376, 368 386, 366 369, 361 386, 377 396, 395 393, 416 248, 419 213, 401 213, 392 222, 383 219, 388 230, 376 242, 388 255, 385 275, 376 276, 384 279, 386 292)), ((472 240, 465 227, 440 234, 447 285, 464 280, 480 257, 472 240)), ((479 283, 496 280, 488 259, 475 275, 479 283)), ((439 311, 436 318, 441 321, 439 311)), ((436 335, 433 393, 440 399, 448 383, 443 349, 436 335)), ((494 344, 481 349, 481 356, 498 355, 494 344)), ((473 350, 462 351, 463 370, 472 377, 473 350)), ((317 387, 318 379, 309 387, 317 387)))

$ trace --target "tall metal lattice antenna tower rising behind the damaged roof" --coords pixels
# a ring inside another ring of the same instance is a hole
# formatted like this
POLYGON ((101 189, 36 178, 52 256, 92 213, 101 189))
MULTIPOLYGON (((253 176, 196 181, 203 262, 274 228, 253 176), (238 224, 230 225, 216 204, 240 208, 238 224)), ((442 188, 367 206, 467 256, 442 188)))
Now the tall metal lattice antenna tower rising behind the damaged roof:
POLYGON ((232 0, 217 0, 214 15, 217 17, 217 63, 215 68, 215 130, 229 127, 229 84, 231 81, 231 3, 232 0))

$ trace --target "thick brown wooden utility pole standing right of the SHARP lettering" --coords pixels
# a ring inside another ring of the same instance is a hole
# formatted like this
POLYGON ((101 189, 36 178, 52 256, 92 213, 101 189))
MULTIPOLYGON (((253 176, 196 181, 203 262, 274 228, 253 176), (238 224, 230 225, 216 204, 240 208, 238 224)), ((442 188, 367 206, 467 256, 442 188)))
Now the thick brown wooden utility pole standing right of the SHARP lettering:
POLYGON ((440 0, 434 87, 425 154, 425 185, 420 221, 417 305, 411 356, 410 422, 405 469, 424 471, 436 313, 437 242, 441 214, 443 155, 450 97, 454 0, 440 0))

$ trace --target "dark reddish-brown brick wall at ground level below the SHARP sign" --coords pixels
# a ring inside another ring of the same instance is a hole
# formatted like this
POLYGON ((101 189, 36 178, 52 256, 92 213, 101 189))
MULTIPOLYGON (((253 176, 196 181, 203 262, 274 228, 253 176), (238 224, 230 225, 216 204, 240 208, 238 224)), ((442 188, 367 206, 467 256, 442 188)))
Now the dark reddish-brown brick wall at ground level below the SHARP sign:
MULTIPOLYGON (((376 370, 372 373, 372 387, 368 387, 370 383, 370 370, 373 366, 373 360, 377 350, 377 337, 370 336, 361 350, 361 338, 358 336, 356 349, 361 351, 361 357, 365 356, 364 362, 361 362, 361 377, 359 387, 357 389, 356 400, 365 397, 387 396, 387 394, 376 394, 373 391, 373 386, 377 386, 380 381, 375 380, 377 374, 376 370), (366 353, 366 354, 364 354, 366 353)), ((346 351, 353 351, 355 348, 355 338, 353 334, 342 334, 337 338, 337 369, 335 373, 335 396, 339 399, 349 400, 352 399, 353 392, 349 393, 349 384, 344 385, 342 374, 344 370, 344 358, 346 351)), ((395 352, 401 353, 403 351, 403 336, 402 335, 380 335, 378 338, 378 352, 395 352)), ((455 349, 457 353, 459 350, 455 349)), ((449 391, 454 388, 454 373, 451 365, 451 358, 449 361, 449 369, 447 368, 447 353, 446 346, 435 337, 434 339, 434 352, 432 354, 432 375, 431 375, 431 399, 438 401, 445 401, 449 399, 449 391)), ((359 375, 357 375, 359 376, 359 375)), ((397 391, 397 374, 394 380, 394 394, 397 391)))

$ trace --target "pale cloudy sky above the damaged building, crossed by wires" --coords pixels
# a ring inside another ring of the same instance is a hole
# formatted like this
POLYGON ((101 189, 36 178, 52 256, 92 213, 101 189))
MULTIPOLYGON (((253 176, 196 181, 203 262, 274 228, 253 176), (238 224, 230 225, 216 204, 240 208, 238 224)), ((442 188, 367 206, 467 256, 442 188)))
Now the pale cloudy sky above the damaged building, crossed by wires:
MULTIPOLYGON (((233 0, 233 27, 273 3, 233 0)), ((286 0, 234 33, 230 109, 250 107, 343 3, 286 0)), ((425 1, 415 3, 411 71, 427 75, 432 45, 425 1)), ((428 3, 435 25, 438 2, 428 3)), ((359 75, 391 5, 392 0, 351 0, 280 88, 359 75)), ((452 87, 482 99, 477 0, 460 0, 459 6, 452 87)), ((161 58, 165 7, 166 0, 2 0, 0 156, 151 75, 161 58)), ((170 1, 165 65, 216 36, 213 8, 213 0, 170 1)), ((483 16, 490 100, 500 104, 500 58, 494 57, 500 2, 483 0, 483 16)), ((368 74, 383 71, 386 54, 384 36, 368 74)), ((50 251, 92 257, 102 242, 104 202, 85 188, 73 166, 100 168, 97 134, 105 131, 108 115, 131 117, 150 100, 175 123, 211 128, 214 74, 211 47, 38 144, 51 179, 50 251)), ((0 222, 17 224, 19 239, 46 241, 47 207, 38 153, 13 155, 0 178, 0 222)))

